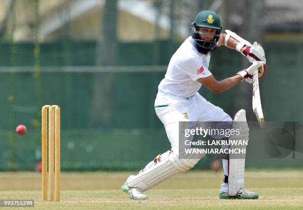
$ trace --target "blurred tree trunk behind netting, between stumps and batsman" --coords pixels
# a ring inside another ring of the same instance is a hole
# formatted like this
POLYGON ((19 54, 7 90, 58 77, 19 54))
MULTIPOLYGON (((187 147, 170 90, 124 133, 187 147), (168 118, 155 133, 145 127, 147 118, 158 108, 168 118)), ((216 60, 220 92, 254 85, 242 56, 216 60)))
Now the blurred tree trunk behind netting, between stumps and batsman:
MULTIPOLYGON (((117 0, 105 0, 101 15, 100 37, 96 45, 96 65, 116 65, 117 0)), ((113 122, 114 75, 96 73, 92 109, 92 126, 108 128, 113 122)))

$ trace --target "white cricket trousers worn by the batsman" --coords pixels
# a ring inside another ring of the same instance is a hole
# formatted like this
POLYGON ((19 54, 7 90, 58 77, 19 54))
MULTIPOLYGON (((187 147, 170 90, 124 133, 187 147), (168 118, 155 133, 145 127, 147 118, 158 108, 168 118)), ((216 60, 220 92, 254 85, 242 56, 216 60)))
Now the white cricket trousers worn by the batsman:
POLYGON ((154 107, 174 153, 179 151, 179 121, 233 121, 222 108, 206 101, 199 93, 186 98, 158 92, 154 107))

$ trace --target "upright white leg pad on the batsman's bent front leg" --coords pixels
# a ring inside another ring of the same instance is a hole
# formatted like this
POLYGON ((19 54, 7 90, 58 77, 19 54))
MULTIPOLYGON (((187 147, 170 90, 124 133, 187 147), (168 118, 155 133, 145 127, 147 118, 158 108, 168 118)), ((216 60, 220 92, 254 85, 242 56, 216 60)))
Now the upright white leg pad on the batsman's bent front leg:
MULTIPOLYGON (((245 110, 239 110, 233 121, 233 129, 240 129, 240 135, 234 135, 229 140, 249 140, 249 127, 246 121, 245 110), (238 123, 237 123, 238 122, 238 123), (240 129, 241 127, 241 129, 240 129)), ((232 148, 246 149, 246 146, 230 146, 232 148)), ((239 189, 244 187, 245 154, 229 155, 228 195, 235 196, 239 189)))

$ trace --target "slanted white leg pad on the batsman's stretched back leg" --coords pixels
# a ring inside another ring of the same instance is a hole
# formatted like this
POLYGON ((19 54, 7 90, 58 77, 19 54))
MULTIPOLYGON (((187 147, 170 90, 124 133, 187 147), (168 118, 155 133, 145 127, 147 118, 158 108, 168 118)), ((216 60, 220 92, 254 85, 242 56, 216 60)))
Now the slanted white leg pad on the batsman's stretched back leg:
POLYGON ((127 185, 129 187, 139 188, 144 192, 169 177, 194 167, 199 160, 200 159, 179 159, 178 155, 171 153, 167 158, 161 160, 146 171, 136 176, 130 176, 127 179, 127 185))

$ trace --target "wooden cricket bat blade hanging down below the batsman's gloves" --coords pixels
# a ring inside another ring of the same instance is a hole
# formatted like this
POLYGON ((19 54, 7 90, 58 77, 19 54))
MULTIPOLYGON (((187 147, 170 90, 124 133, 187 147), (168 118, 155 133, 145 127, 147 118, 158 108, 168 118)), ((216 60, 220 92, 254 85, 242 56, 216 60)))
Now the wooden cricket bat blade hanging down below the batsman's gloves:
POLYGON ((264 128, 264 116, 261 106, 258 71, 253 73, 253 112, 261 128, 264 128))

